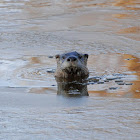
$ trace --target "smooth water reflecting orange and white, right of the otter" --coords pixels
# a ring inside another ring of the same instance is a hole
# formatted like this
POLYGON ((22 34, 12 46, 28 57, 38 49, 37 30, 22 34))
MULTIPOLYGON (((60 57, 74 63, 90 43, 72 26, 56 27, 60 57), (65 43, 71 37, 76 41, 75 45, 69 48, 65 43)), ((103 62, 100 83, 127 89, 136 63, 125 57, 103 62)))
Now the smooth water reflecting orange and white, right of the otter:
MULTIPOLYGON (((90 60, 89 58, 89 67, 92 63, 90 60)), ((118 54, 100 55, 97 58, 92 56, 92 60, 95 61, 95 64, 92 63, 95 71, 92 71, 91 75, 97 75, 98 72, 103 78, 102 84, 88 86, 90 96, 140 98, 140 58, 118 54), (106 73, 103 70, 107 70, 106 73), (111 73, 114 74, 107 80, 107 75, 111 73)))

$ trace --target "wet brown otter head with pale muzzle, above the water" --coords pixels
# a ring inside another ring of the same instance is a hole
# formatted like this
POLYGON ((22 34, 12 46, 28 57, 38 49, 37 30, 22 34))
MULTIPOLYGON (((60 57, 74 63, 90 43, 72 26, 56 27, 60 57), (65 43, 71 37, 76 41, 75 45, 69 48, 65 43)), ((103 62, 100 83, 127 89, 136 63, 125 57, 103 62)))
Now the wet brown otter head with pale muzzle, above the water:
POLYGON ((55 57, 57 60, 57 70, 55 73, 56 77, 88 77, 88 54, 69 52, 61 55, 56 55, 55 57))

